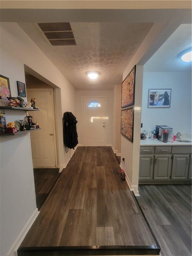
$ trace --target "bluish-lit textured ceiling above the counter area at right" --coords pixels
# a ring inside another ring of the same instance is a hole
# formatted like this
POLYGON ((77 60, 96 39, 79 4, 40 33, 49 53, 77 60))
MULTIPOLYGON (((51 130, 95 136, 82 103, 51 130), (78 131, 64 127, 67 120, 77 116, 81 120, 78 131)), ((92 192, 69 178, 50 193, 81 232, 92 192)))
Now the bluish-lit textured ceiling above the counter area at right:
POLYGON ((191 62, 183 62, 181 53, 192 47, 191 25, 180 25, 146 62, 144 71, 190 71, 191 62))

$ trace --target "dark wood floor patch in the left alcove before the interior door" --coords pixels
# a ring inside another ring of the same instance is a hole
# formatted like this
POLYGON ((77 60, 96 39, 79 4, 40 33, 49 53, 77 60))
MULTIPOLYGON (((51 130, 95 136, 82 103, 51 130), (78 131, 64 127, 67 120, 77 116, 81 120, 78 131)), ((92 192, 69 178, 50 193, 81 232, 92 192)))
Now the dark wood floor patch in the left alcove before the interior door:
POLYGON ((34 168, 35 195, 38 210, 59 178, 58 168, 34 168))

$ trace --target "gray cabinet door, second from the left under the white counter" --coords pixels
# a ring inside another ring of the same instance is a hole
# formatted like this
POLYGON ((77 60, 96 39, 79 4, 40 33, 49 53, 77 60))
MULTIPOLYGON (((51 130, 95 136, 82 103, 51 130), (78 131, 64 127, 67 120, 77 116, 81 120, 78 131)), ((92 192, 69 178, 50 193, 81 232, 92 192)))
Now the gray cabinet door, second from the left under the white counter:
POLYGON ((155 155, 154 180, 170 180, 171 155, 155 155))

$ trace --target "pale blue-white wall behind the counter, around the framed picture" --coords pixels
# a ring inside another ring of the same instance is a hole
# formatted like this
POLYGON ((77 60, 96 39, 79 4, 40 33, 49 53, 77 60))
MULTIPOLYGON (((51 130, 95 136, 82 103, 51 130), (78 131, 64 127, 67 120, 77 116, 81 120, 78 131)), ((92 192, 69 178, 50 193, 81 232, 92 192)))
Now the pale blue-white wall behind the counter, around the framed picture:
POLYGON ((191 72, 144 72, 141 122, 143 130, 168 125, 191 134, 191 72), (170 108, 148 108, 148 89, 172 89, 170 108))

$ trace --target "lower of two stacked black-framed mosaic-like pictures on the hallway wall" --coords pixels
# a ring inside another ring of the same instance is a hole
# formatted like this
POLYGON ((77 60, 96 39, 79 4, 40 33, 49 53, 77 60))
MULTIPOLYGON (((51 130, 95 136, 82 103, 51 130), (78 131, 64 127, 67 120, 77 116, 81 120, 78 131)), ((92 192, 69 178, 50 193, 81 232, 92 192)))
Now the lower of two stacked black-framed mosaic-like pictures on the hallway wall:
POLYGON ((121 134, 133 142, 134 107, 121 110, 121 134))

